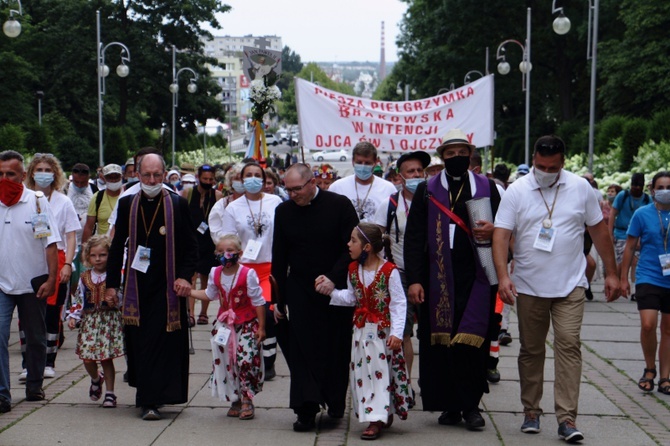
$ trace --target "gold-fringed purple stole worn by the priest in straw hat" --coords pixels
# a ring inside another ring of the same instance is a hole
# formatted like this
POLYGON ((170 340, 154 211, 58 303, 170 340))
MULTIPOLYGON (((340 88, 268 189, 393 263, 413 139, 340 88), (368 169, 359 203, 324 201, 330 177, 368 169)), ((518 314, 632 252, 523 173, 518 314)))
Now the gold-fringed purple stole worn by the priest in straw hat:
MULTIPOLYGON (((427 191, 450 208, 449 191, 442 187, 440 181, 442 175, 444 174, 440 173, 428 180, 427 191)), ((477 191, 472 198, 490 197, 489 180, 483 175, 473 175, 477 191)), ((470 178, 465 178, 464 181, 470 181, 470 178)), ((460 343, 479 348, 486 339, 489 326, 491 285, 475 252, 475 282, 461 323, 454 330, 454 272, 449 248, 450 223, 451 219, 428 200, 430 343, 447 346, 460 343), (435 234, 435 237, 431 237, 431 234, 435 234)), ((474 250, 474 246, 472 249, 474 250)))

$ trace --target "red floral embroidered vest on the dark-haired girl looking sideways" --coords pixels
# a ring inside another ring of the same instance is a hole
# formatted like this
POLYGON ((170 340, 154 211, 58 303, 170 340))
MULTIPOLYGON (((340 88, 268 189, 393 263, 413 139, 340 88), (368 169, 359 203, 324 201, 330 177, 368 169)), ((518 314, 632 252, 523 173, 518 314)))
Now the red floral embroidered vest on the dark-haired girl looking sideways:
POLYGON ((391 295, 389 294, 389 280, 391 272, 396 266, 391 262, 384 262, 375 274, 371 284, 363 287, 363 282, 358 272, 358 262, 349 264, 349 281, 354 287, 356 294, 356 311, 354 311, 354 325, 363 328, 366 322, 375 323, 379 328, 391 326, 391 313, 389 305, 391 295))

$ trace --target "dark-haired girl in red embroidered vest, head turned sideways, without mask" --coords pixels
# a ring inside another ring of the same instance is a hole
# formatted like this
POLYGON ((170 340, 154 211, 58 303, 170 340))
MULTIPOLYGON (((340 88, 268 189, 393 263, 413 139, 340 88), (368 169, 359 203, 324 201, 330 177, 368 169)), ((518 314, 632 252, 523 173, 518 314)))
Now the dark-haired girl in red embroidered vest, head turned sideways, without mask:
MULTIPOLYGON (((407 418, 410 400, 402 332, 407 298, 400 274, 379 255, 389 240, 381 228, 360 223, 351 233, 346 290, 334 290, 331 305, 356 306, 349 373, 354 411, 361 422, 369 422, 361 434, 364 440, 379 437, 390 427, 393 414, 407 418)), ((316 279, 317 284, 324 276, 316 279)))

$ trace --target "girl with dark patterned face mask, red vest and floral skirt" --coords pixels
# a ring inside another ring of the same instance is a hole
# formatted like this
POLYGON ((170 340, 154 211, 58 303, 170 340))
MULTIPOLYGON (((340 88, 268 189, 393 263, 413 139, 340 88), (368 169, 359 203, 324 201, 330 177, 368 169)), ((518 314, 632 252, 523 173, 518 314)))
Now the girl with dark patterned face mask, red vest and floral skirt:
POLYGON ((212 268, 207 289, 192 290, 191 297, 219 300, 219 314, 212 330, 212 396, 232 401, 229 417, 254 417, 253 397, 263 390, 265 299, 256 272, 238 264, 242 242, 233 234, 216 244, 220 266, 212 268))

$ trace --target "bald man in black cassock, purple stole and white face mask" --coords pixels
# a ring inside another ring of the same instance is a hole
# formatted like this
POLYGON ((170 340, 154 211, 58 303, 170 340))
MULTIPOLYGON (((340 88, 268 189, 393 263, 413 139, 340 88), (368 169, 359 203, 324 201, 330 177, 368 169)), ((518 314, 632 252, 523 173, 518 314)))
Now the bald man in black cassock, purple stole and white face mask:
POLYGON ((145 155, 138 171, 141 192, 119 199, 105 300, 116 303, 127 241, 123 319, 128 383, 137 389, 135 404, 142 409, 142 418, 158 420, 158 406, 188 399, 183 297, 190 294, 198 249, 187 201, 163 188, 163 158, 145 155))

